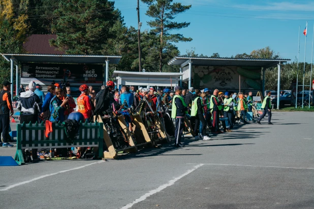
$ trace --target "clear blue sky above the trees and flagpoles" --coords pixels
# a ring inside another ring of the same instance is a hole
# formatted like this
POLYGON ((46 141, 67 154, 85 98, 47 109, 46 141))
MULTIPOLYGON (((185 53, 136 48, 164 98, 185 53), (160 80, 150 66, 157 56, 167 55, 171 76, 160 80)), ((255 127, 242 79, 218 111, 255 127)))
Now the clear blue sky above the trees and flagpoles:
MULTIPOLYGON (((176 43, 181 55, 187 49, 222 57, 238 53, 247 54, 254 49, 269 46, 279 52, 281 58, 295 59, 298 53, 298 29, 300 25, 300 55, 304 60, 305 36, 303 30, 308 21, 306 62, 311 60, 314 1, 231 1, 231 0, 177 0, 192 8, 174 19, 190 22, 179 32, 191 37, 192 42, 176 43)), ((116 0, 115 7, 124 16, 125 24, 137 28, 137 0, 116 0)), ((140 2, 142 29, 149 29, 145 15, 147 6, 140 2)))

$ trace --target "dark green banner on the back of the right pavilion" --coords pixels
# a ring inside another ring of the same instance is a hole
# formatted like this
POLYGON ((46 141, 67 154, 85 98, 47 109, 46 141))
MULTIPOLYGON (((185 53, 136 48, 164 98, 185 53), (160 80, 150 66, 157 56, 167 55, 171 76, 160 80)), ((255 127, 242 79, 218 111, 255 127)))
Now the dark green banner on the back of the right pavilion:
POLYGON ((261 68, 230 66, 193 66, 192 86, 221 90, 261 90, 261 68), (240 79, 239 79, 240 78, 240 79))

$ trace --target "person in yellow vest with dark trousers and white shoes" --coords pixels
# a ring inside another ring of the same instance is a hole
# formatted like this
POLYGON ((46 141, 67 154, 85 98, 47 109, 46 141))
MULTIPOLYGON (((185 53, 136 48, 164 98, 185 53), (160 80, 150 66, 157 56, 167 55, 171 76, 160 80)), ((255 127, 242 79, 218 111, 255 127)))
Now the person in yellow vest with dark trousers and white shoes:
MULTIPOLYGON (((206 96, 206 94, 203 94, 202 98, 200 97, 201 94, 202 92, 199 89, 195 90, 195 95, 193 97, 192 107, 191 107, 191 116, 195 117, 195 127, 194 127, 195 140, 210 140, 210 138, 206 136, 207 113, 205 113, 203 103, 202 103, 202 99, 206 96), (199 128, 200 122, 202 123, 202 128, 199 128), (199 135, 200 129, 202 130, 202 132, 199 135)), ((206 112, 207 112, 207 109, 206 109, 206 112)))

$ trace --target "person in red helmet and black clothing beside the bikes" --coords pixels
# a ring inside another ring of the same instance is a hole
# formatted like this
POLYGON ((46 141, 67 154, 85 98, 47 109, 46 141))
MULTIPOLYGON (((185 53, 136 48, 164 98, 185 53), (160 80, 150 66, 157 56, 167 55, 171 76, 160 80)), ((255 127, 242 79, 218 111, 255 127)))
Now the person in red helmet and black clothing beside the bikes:
POLYGON ((119 102, 117 102, 114 99, 114 96, 111 93, 111 91, 114 89, 114 86, 115 86, 115 84, 113 83, 113 81, 107 81, 106 88, 100 94, 99 99, 96 103, 94 115, 97 115, 97 114, 104 115, 105 111, 108 111, 108 112, 112 111, 110 109, 111 103, 113 103, 113 105, 116 109, 120 108, 119 102))

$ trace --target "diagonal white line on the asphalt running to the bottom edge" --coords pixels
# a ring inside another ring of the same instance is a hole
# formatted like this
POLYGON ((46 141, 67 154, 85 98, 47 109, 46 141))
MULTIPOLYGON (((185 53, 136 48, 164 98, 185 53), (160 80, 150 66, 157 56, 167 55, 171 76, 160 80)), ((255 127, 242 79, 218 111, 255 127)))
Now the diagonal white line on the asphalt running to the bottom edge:
POLYGON ((162 191, 163 189, 166 189, 167 187, 173 185, 176 181, 180 180, 181 178, 185 177, 186 175, 189 175, 191 172, 193 172, 194 170, 196 170, 197 168, 201 167, 204 164, 198 164, 196 166, 194 166, 194 168, 192 168, 191 170, 187 170, 185 173, 183 173, 181 176, 174 178, 173 180, 170 180, 167 184, 163 184, 162 186, 158 187, 157 189, 153 189, 150 190, 148 193, 144 194, 143 196, 141 196, 140 198, 134 200, 132 203, 127 204, 123 207, 121 207, 121 209, 128 209, 130 207, 132 207, 134 204, 141 202, 143 200, 145 200, 147 197, 162 191))

